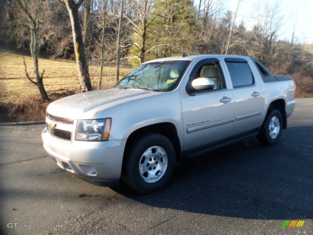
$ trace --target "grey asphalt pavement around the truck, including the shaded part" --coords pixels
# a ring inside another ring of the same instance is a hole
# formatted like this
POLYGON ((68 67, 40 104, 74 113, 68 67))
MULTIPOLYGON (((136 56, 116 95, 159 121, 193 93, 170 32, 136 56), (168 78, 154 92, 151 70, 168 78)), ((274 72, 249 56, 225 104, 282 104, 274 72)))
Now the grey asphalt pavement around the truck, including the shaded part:
POLYGON ((313 234, 313 98, 297 99, 275 146, 250 138, 188 159, 143 196, 60 169, 43 129, 0 126, 0 234, 313 234))

